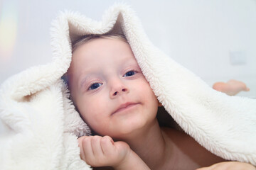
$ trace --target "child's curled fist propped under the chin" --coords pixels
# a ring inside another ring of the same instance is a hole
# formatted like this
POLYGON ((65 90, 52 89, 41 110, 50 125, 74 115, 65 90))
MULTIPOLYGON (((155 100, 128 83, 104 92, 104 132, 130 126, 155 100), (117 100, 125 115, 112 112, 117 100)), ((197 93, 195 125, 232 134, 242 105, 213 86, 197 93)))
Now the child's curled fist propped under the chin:
POLYGON ((109 136, 83 136, 78 142, 81 159, 95 167, 118 167, 132 151, 127 143, 114 142, 109 136))

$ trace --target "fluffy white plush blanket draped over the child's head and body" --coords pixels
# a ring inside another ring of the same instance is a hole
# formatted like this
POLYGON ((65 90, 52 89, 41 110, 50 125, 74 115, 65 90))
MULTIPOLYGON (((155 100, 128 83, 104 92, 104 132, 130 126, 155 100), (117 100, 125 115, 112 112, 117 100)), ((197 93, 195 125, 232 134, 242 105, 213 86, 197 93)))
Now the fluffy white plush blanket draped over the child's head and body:
POLYGON ((51 33, 53 62, 1 84, 0 169, 90 169, 77 141, 90 129, 60 77, 70 66, 73 41, 105 33, 124 33, 157 98, 186 133, 219 157, 256 165, 256 100, 211 89, 149 41, 129 6, 115 5, 102 21, 60 13, 51 33))

